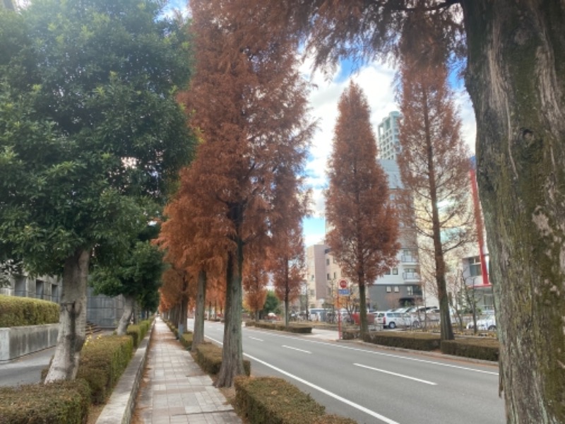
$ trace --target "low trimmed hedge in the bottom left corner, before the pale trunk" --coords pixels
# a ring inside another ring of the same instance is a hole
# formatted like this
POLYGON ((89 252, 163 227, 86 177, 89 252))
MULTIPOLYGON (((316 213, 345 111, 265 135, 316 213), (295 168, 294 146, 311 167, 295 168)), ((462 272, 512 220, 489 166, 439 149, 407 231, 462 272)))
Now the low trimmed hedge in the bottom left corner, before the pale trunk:
POLYGON ((0 424, 82 424, 89 406, 83 379, 0 388, 0 424))

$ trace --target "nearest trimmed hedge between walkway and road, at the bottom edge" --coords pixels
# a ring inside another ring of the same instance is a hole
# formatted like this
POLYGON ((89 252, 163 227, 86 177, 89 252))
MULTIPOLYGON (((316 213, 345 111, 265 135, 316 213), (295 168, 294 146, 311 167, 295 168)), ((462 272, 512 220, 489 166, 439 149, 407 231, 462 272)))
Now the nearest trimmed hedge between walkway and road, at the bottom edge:
POLYGON ((236 377, 235 408, 249 424, 355 424, 326 416, 324 406, 278 377, 236 377))

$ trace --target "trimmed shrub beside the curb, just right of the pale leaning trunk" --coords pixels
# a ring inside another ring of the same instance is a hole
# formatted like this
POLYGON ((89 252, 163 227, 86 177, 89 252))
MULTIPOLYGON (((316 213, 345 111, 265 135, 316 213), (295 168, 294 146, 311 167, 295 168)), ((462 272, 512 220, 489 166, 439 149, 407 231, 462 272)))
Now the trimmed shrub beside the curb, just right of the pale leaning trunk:
POLYGON ((103 404, 133 353, 130 336, 98 336, 88 340, 81 353, 77 378, 88 382, 93 404, 103 404))

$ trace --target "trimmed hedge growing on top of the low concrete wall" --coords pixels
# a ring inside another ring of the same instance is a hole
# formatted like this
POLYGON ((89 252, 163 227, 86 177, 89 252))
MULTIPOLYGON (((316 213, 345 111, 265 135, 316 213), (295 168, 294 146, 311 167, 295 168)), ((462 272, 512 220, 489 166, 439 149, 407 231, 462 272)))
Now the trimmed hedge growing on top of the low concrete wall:
POLYGON ((59 305, 47 300, 0 295, 0 327, 57 324, 59 305))

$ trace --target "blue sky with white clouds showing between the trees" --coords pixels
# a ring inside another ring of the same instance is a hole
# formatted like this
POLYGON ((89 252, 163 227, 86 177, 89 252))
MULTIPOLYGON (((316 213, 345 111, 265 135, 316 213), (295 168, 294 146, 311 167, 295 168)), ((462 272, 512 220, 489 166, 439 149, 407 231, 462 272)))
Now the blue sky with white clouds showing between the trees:
MULTIPOLYGON (((177 8, 186 13, 186 0, 169 0, 167 10, 177 8)), ((326 220, 323 218, 324 199, 323 189, 327 188, 326 163, 331 152, 333 129, 338 117, 338 101, 343 90, 353 80, 362 88, 369 101, 371 109, 371 125, 376 134, 376 128, 393 110, 400 110, 395 102, 394 77, 396 71, 385 64, 377 62, 367 64, 351 72, 350 66, 344 63, 333 78, 320 72, 311 73, 311 61, 304 61, 301 72, 304 78, 314 83, 309 102, 311 118, 318 121, 318 130, 311 141, 309 160, 306 166, 307 187, 312 191, 312 216, 305 218, 304 244, 306 246, 321 242, 325 233, 326 220)), ((462 136, 470 151, 475 151, 475 114, 472 111, 470 99, 465 92, 463 83, 451 78, 453 89, 456 90, 456 103, 462 119, 462 136)))

